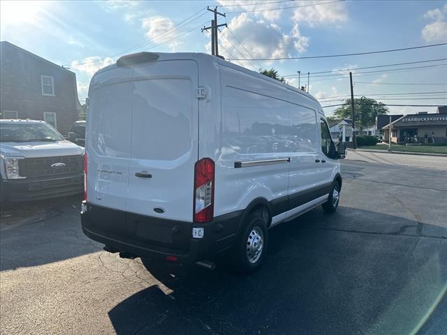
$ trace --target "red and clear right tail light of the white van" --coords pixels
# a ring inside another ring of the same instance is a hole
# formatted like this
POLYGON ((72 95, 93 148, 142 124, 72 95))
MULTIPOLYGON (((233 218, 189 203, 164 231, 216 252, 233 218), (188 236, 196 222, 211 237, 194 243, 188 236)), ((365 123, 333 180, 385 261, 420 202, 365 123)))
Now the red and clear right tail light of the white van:
POLYGON ((214 216, 214 161, 202 158, 194 166, 194 222, 209 222, 214 216))

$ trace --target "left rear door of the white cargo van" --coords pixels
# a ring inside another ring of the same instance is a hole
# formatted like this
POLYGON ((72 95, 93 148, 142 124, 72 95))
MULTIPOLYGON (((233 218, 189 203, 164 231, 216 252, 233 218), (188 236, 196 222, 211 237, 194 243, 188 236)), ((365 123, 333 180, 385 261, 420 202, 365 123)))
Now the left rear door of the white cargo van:
POLYGON ((126 210, 131 158, 131 68, 95 75, 87 113, 87 198, 92 204, 126 210))

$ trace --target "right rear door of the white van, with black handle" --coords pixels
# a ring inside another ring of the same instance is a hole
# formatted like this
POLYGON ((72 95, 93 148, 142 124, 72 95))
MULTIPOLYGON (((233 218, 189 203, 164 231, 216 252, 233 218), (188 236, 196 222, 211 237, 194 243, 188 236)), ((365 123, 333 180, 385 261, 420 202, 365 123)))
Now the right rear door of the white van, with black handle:
POLYGON ((127 211, 192 221, 197 87, 195 61, 156 61, 133 68, 127 211))

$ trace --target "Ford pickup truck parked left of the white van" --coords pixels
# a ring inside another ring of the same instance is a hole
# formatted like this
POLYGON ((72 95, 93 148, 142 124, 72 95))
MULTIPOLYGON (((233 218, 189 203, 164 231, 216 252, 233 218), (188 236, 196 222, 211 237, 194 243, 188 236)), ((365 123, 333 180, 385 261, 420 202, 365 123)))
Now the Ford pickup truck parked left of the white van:
POLYGON ((0 120, 1 200, 82 193, 84 149, 45 121, 0 120))

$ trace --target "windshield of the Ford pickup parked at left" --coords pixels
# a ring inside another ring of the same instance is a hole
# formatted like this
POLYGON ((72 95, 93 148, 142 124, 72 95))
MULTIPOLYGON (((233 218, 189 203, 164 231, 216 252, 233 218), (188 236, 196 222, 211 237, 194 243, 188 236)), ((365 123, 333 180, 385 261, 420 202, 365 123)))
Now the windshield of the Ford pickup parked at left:
POLYGON ((47 124, 19 123, 0 124, 0 142, 62 141, 64 137, 47 124))

